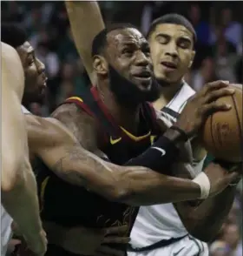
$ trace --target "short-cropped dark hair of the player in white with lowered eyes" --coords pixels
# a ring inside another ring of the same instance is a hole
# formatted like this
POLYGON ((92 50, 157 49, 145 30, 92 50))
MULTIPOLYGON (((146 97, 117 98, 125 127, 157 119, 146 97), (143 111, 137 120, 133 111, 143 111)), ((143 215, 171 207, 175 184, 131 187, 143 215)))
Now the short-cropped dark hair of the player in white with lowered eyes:
POLYGON ((151 36, 151 34, 154 32, 157 25, 159 24, 177 24, 177 25, 184 26, 185 28, 187 28, 187 30, 192 32, 194 37, 194 44, 197 41, 196 32, 194 30, 193 24, 191 24, 186 17, 183 17, 177 13, 169 13, 155 19, 154 22, 149 27, 147 38, 151 36))

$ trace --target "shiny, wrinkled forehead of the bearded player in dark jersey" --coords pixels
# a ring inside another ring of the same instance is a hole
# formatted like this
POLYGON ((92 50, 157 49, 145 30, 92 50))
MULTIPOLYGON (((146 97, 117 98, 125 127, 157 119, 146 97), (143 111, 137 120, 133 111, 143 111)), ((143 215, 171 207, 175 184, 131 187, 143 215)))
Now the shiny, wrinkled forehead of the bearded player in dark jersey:
POLYGON ((144 44, 145 37, 134 28, 113 30, 108 33, 108 44, 144 44))

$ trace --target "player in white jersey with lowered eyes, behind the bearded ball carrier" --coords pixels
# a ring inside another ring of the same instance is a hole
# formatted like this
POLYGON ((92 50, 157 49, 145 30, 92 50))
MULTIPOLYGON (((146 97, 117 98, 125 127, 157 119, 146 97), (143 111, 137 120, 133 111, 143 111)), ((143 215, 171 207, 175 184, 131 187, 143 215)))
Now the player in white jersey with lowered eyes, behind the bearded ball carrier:
MULTIPOLYGON (((195 39, 192 24, 176 14, 158 18, 148 31, 154 75, 161 84, 161 96, 154 107, 173 122, 194 95, 183 76, 193 63, 195 39)), ((195 139, 193 148, 195 175, 201 170, 206 152, 195 139)), ((131 251, 136 253, 128 255, 208 255, 207 244, 198 239, 208 242, 216 236, 232 207, 239 180, 196 207, 189 203, 141 207, 131 233, 131 251), (198 239, 188 236, 188 232, 198 239)))

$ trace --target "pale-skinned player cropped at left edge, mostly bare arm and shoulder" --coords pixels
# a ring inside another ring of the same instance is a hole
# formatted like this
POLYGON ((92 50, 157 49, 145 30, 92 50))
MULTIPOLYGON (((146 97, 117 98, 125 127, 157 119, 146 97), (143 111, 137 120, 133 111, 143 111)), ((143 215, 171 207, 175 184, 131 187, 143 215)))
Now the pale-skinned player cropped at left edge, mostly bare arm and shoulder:
POLYGON ((21 112, 23 67, 16 51, 10 45, 1 43, 1 48, 4 151, 1 173, 1 255, 6 253, 11 237, 10 225, 14 219, 30 249, 41 256, 46 251, 47 240, 38 215, 36 181, 29 162, 27 137, 21 112))

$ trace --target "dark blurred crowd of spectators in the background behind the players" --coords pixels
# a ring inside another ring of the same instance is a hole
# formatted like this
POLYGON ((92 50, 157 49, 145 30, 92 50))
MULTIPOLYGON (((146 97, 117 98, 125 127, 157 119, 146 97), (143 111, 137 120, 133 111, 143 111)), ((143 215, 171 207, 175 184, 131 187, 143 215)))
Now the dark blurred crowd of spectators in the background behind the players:
MULTIPOLYGON (((195 91, 216 79, 243 83, 243 2, 100 2, 105 23, 131 23, 143 33, 156 17, 176 12, 187 17, 198 42, 192 71, 185 79, 195 91)), ((89 77, 78 57, 62 2, 2 2, 2 21, 23 25, 36 55, 46 65, 49 91, 43 106, 30 111, 47 116, 65 98, 89 86, 89 77)), ((242 256, 242 188, 239 188, 226 223, 210 246, 212 256, 242 256)), ((215 217, 217 218, 217 217, 215 217)))

